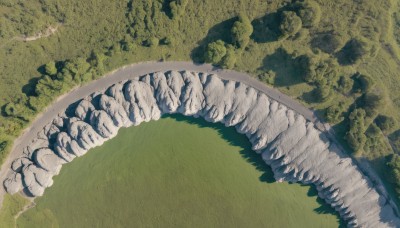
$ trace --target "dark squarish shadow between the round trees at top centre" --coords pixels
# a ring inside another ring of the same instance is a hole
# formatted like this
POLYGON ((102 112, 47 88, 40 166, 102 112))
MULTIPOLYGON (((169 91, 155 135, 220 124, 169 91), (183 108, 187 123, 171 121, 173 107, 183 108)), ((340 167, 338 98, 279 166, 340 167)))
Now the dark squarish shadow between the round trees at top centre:
POLYGON ((281 32, 279 30, 279 13, 269 13, 263 17, 254 19, 251 24, 253 25, 254 32, 251 35, 256 43, 269 43, 278 41, 281 32))

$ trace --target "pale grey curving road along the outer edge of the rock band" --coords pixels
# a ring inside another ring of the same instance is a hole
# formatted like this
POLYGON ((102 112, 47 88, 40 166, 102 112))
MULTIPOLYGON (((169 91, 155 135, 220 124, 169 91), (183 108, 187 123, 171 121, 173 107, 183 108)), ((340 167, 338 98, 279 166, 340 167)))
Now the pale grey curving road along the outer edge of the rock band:
MULTIPOLYGON (((193 62, 145 62, 137 63, 133 65, 128 65, 113 72, 106 74, 101 79, 92 81, 81 87, 77 87, 69 93, 59 97, 55 102, 49 105, 46 110, 44 110, 37 118, 32 122, 30 127, 24 130, 23 134, 14 141, 14 146, 11 153, 7 157, 6 161, 2 164, 0 170, 0 182, 3 183, 8 172, 10 172, 10 166, 14 159, 21 156, 23 148, 28 146, 28 144, 36 136, 43 127, 49 123, 49 120, 56 117, 60 112, 64 111, 70 104, 94 93, 106 89, 112 84, 118 83, 120 81, 125 81, 132 79, 134 77, 146 75, 148 73, 153 73, 157 71, 194 71, 194 72, 208 72, 210 74, 217 74, 222 79, 229 79, 234 81, 239 81, 251 86, 270 98, 284 104, 288 108, 296 111, 297 113, 303 115, 307 120, 313 122, 316 127, 321 131, 329 130, 329 125, 323 125, 318 118, 315 116, 314 112, 307 109, 294 99, 289 96, 279 92, 278 90, 266 86, 264 83, 258 81, 257 79, 251 78, 248 74, 240 73, 230 70, 222 70, 215 68, 210 64, 195 64, 193 62)), ((0 188, 0 205, 5 194, 4 187, 0 188)))

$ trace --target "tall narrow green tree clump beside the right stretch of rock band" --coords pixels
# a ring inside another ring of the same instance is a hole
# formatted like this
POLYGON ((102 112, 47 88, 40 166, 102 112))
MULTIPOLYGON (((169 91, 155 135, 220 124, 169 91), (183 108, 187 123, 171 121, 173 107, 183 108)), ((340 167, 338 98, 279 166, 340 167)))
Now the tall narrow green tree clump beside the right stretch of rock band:
POLYGON ((349 116, 350 128, 346 133, 346 140, 355 153, 358 153, 364 147, 367 139, 365 136, 365 117, 366 113, 361 108, 355 109, 349 116))

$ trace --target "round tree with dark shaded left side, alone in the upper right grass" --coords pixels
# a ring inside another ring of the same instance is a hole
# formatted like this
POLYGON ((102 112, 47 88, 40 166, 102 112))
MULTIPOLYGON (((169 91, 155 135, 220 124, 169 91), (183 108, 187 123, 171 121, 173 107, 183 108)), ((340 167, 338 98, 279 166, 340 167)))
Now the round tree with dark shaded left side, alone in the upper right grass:
POLYGON ((372 44, 364 37, 353 38, 346 43, 339 54, 339 63, 356 64, 371 54, 372 44))

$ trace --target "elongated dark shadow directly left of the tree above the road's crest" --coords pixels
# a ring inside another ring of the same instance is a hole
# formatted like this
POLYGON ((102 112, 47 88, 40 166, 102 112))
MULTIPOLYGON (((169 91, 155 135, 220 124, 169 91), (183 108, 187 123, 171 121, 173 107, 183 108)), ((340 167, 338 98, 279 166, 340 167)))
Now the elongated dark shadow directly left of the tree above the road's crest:
POLYGON ((203 55, 205 48, 211 42, 222 40, 225 43, 232 43, 231 28, 236 20, 237 18, 234 17, 211 27, 208 30, 206 37, 200 40, 197 43, 198 46, 191 51, 190 57, 192 60, 199 63, 204 62, 203 55))

